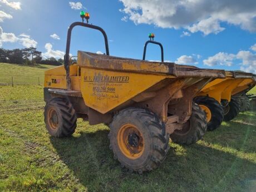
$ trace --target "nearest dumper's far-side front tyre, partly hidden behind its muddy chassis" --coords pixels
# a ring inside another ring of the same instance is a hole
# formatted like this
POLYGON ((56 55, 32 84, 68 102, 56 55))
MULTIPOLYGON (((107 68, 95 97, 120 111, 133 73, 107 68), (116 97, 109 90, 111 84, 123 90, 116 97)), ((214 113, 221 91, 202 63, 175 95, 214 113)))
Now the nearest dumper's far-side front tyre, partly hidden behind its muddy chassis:
POLYGON ((199 141, 207 130, 205 112, 197 104, 192 106, 190 119, 185 122, 183 129, 175 130, 170 138, 178 144, 191 145, 199 141))

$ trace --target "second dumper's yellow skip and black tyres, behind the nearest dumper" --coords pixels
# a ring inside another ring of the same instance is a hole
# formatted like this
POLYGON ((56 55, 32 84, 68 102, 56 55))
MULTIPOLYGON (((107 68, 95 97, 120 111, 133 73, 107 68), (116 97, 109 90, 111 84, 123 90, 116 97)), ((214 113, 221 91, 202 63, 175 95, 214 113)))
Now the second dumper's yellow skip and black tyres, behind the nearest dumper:
POLYGON ((255 85, 255 77, 252 73, 237 71, 225 73, 226 78, 209 82, 194 99, 206 112, 208 130, 216 129, 223 120, 234 119, 239 114, 241 99, 245 97, 243 95, 255 85))

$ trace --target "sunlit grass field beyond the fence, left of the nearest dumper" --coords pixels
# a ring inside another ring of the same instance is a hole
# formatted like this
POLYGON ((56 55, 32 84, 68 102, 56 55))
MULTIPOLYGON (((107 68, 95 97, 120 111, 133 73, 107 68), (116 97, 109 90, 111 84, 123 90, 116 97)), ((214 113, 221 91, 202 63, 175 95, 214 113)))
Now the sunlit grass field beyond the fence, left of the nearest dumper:
POLYGON ((44 71, 55 66, 51 65, 16 65, 9 63, 0 63, 0 85, 43 85, 44 71))

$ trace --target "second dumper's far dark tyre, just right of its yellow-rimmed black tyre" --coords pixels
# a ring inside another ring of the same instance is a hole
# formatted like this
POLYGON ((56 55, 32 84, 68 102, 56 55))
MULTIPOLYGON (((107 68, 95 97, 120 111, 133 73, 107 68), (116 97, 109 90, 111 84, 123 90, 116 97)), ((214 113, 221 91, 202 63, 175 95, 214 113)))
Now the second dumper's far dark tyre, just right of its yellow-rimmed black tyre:
POLYGON ((229 104, 224 107, 224 121, 233 120, 240 111, 239 101, 237 99, 231 98, 229 104))

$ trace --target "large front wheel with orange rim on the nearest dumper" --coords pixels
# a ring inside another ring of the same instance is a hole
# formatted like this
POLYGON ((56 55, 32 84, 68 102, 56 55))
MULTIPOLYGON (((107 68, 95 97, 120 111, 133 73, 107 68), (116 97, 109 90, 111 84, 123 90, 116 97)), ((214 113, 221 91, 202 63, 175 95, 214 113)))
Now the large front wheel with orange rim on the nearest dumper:
POLYGON ((129 108, 116 114, 109 139, 114 159, 139 174, 160 166, 169 150, 165 124, 146 109, 129 108))

